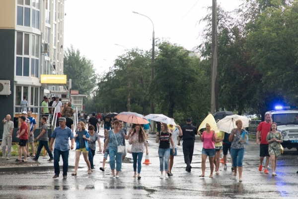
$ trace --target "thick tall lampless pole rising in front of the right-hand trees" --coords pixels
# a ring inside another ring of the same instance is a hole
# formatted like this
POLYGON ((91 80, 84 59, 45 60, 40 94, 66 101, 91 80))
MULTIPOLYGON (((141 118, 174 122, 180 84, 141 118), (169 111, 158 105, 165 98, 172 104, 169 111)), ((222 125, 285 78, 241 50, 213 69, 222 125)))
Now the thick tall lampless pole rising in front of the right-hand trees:
POLYGON ((217 111, 218 107, 218 44, 217 44, 217 0, 212 0, 212 64, 211 64, 211 114, 217 111))

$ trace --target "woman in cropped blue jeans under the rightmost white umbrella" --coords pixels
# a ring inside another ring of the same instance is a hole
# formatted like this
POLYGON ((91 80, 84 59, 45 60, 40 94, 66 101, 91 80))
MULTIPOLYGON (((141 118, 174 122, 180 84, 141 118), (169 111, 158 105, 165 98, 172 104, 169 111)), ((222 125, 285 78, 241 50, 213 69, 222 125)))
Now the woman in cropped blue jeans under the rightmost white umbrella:
POLYGON ((248 139, 247 131, 242 128, 242 121, 238 119, 236 121, 237 128, 232 129, 228 140, 231 144, 231 156, 233 161, 234 175, 233 179, 236 179, 237 168, 239 173, 239 182, 242 182, 242 161, 245 151, 245 142, 248 139), (244 135, 244 139, 243 139, 244 135))

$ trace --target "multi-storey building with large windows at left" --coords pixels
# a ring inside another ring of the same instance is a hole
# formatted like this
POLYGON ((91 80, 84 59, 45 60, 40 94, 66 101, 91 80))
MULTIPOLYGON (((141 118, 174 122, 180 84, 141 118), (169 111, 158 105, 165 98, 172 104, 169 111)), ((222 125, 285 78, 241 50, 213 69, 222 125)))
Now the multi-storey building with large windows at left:
POLYGON ((1 118, 17 117, 25 96, 40 119, 43 96, 66 90, 40 83, 41 75, 63 75, 64 1, 0 0, 0 81, 11 91, 0 95, 1 118))

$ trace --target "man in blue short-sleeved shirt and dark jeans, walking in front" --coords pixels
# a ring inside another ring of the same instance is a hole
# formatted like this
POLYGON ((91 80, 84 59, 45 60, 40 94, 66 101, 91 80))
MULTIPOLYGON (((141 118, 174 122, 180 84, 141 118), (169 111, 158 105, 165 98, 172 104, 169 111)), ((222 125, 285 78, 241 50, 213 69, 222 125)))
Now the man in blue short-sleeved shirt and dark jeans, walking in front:
POLYGON ((51 143, 50 143, 50 151, 53 151, 52 145, 55 141, 55 148, 54 148, 54 170, 55 175, 53 179, 59 177, 60 174, 60 167, 59 161, 60 156, 62 156, 63 160, 63 179, 67 179, 67 171, 68 171, 68 158, 69 158, 69 138, 72 141, 71 149, 74 149, 74 135, 72 130, 66 126, 66 118, 60 117, 59 118, 59 126, 55 128, 51 136, 51 143))

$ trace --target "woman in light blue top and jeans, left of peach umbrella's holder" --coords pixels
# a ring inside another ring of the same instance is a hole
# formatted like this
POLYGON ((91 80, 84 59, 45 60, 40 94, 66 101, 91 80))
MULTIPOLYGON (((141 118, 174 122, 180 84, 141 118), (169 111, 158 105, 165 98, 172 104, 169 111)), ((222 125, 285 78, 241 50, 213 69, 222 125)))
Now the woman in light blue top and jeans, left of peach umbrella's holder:
POLYGON ((123 146, 123 138, 126 140, 129 138, 130 133, 125 135, 124 131, 119 128, 119 121, 116 120, 113 123, 114 129, 111 129, 108 133, 108 137, 104 143, 103 153, 105 153, 106 147, 109 143, 109 155, 110 155, 110 167, 112 175, 110 178, 119 178, 118 173, 121 170, 122 154, 117 153, 117 143, 123 146), (116 140, 117 139, 117 140, 116 140), (116 157, 116 175, 115 175, 115 157, 116 157))

